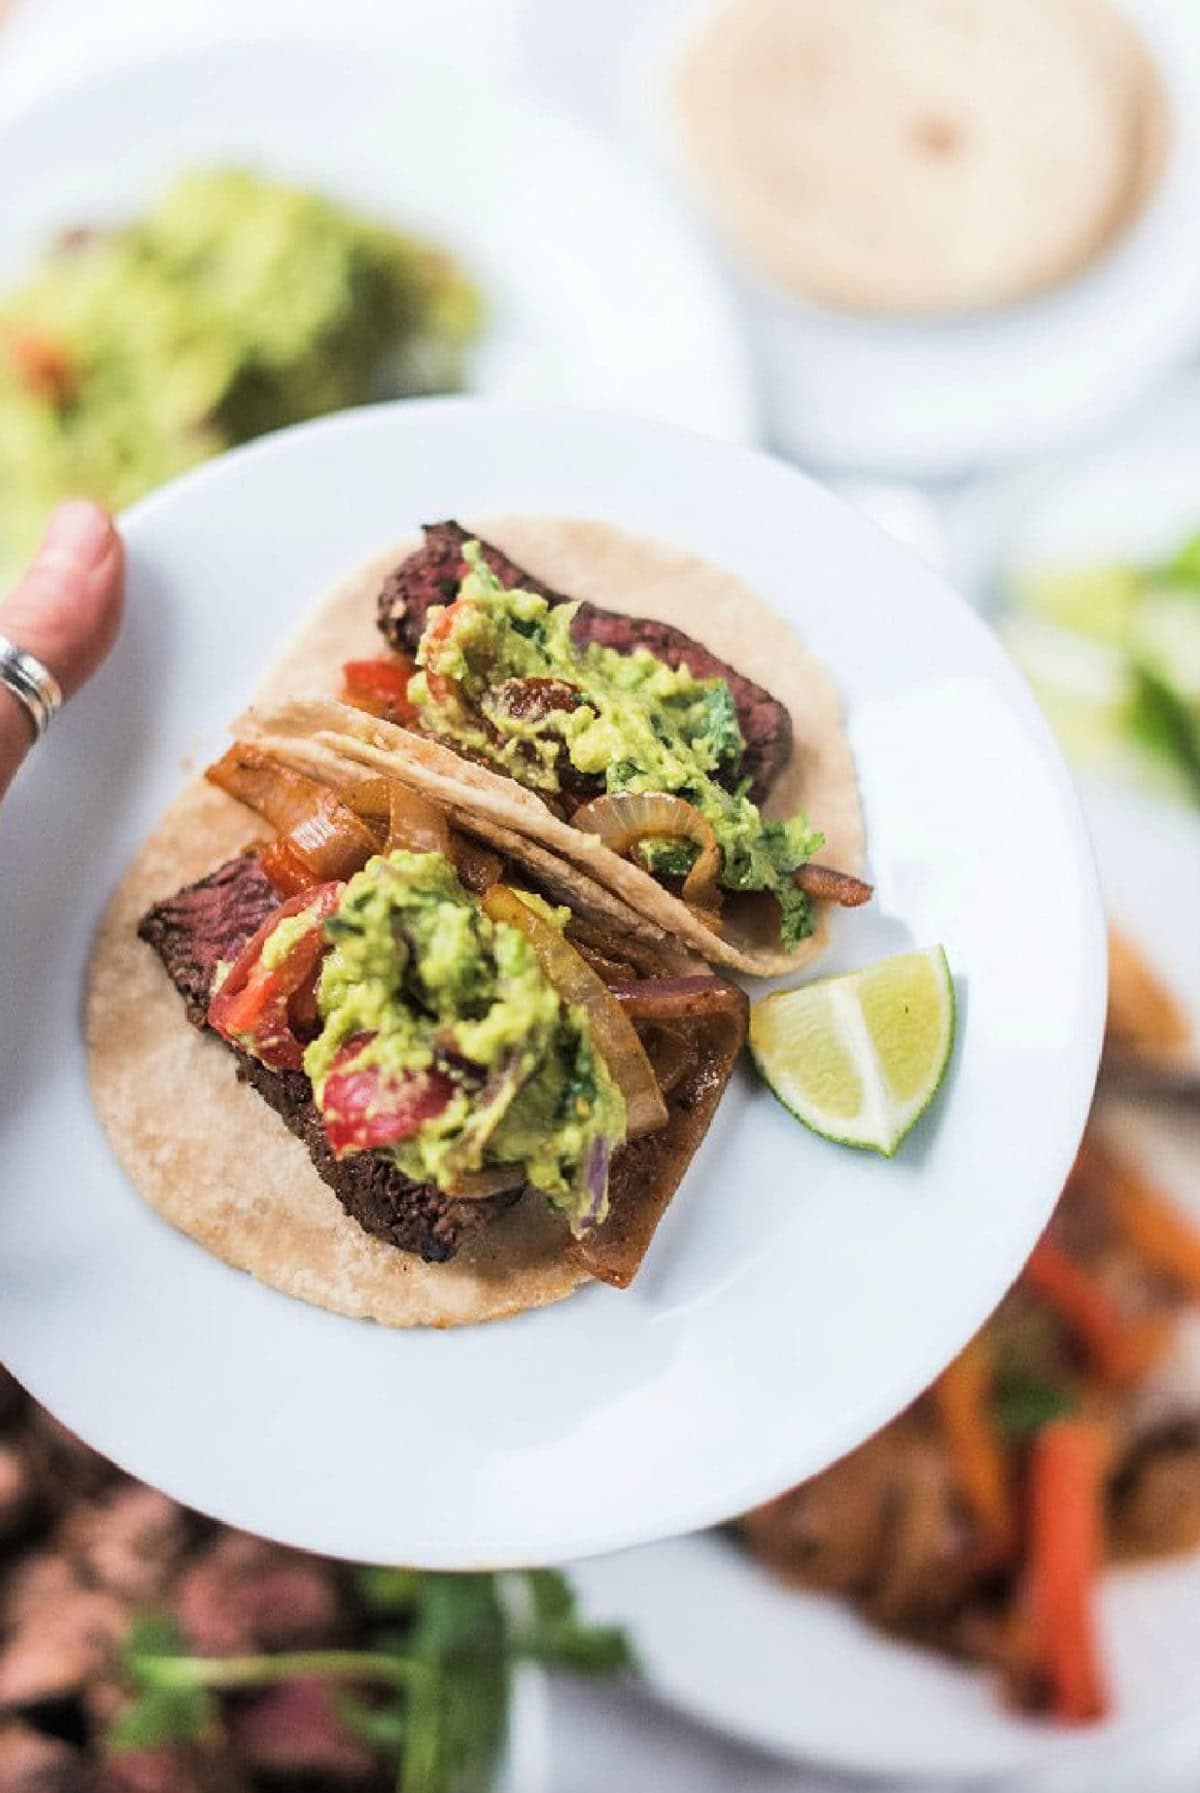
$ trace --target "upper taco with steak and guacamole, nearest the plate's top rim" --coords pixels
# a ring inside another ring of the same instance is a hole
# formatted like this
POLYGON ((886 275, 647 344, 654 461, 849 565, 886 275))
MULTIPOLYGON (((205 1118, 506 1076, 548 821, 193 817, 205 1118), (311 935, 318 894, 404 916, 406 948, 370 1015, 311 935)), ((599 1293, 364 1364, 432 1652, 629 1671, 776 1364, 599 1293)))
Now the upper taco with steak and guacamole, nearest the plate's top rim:
POLYGON ((346 667, 348 701, 248 732, 536 843, 734 970, 805 965, 827 911, 872 895, 832 681, 734 576, 601 524, 448 522, 377 615, 391 653, 346 667))

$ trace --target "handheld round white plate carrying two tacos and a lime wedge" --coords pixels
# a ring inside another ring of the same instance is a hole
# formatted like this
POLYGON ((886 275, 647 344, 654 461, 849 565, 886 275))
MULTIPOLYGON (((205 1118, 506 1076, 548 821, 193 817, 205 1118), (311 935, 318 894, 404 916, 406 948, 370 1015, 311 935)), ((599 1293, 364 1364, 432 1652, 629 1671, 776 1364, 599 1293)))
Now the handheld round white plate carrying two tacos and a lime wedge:
POLYGON ((924 1386, 1046 1221, 1105 1000, 1074 793, 976 615, 782 463, 479 400, 285 432, 145 500, 127 533, 120 651, 0 828, 0 1357, 38 1399, 253 1531, 477 1567, 710 1524, 924 1386), (395 1334, 265 1293, 152 1217, 91 1115, 81 990, 181 760, 221 748, 289 624, 422 518, 497 509, 687 543, 795 620, 845 696, 877 884, 827 963, 943 941, 960 1045, 893 1164, 807 1135, 743 1072, 631 1291, 395 1334))

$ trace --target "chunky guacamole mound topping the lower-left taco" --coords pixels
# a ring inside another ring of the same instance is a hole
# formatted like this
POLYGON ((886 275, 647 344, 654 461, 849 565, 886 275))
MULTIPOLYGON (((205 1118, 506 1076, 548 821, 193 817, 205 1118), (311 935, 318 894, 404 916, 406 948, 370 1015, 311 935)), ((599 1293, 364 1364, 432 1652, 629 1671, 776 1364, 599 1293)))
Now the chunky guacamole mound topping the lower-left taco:
MULTIPOLYGON (((572 1226, 603 1219, 624 1099, 585 1011, 558 997, 526 936, 484 914, 439 853, 411 852, 350 879, 325 932, 334 945, 305 1070, 326 1122, 348 1074, 373 1079, 380 1110, 425 1074, 438 1112, 387 1148, 405 1176, 454 1192, 465 1176, 515 1165, 517 1183, 572 1226)), ((264 963, 271 956, 267 938, 264 963)))

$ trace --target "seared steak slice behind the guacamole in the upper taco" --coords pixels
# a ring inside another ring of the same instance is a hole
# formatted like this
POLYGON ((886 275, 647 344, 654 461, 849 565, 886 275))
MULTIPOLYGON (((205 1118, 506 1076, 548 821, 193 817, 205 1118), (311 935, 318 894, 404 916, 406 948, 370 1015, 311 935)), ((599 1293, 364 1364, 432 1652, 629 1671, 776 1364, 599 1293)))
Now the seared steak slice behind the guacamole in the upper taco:
MULTIPOLYGON (((466 576, 463 545, 470 540, 461 524, 427 524, 425 545, 387 574, 378 593, 378 626, 391 647, 405 654, 416 653, 430 604, 452 602, 459 581, 466 576)), ((536 592, 551 604, 569 602, 561 592, 542 585, 490 541, 483 541, 481 549, 502 585, 536 592)), ((624 617, 615 610, 599 610, 596 604, 581 604, 572 638, 579 647, 599 642, 621 654, 649 647, 671 667, 687 663, 694 678, 723 678, 734 694, 737 721, 746 739, 743 773, 750 778, 750 794, 755 803, 766 798, 791 757, 791 717, 777 697, 669 622, 649 622, 624 617)))

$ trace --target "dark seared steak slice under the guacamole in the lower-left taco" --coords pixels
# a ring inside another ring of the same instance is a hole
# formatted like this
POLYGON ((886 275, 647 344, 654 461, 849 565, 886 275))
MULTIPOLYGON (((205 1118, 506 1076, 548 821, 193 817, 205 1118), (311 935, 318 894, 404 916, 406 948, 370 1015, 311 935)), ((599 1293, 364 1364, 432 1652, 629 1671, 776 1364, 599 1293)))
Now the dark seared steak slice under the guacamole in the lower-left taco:
MULTIPOLYGON (((194 1026, 206 1027, 208 995, 217 963, 237 957, 278 905, 280 898, 258 855, 242 853, 199 884, 190 884, 176 896, 154 904, 142 916, 138 934, 163 961, 194 1026)), ((228 1045, 226 1040, 221 1044, 228 1045)), ((228 1049, 237 1058, 239 1078, 253 1085, 303 1140, 317 1173, 346 1214, 377 1239, 386 1239, 402 1252, 416 1252, 430 1264, 441 1264, 517 1200, 515 1194, 504 1194, 486 1201, 452 1201, 432 1183, 414 1183, 373 1153, 335 1158, 303 1072, 269 1070, 248 1052, 239 1052, 231 1045, 228 1049)))

